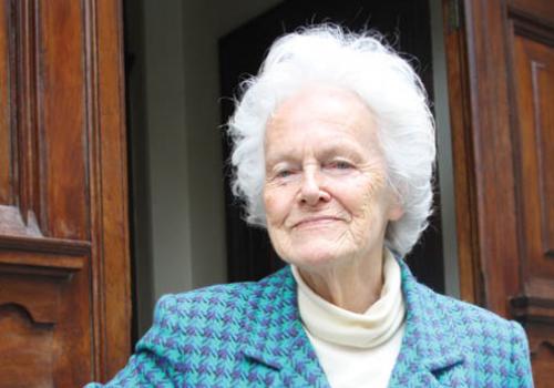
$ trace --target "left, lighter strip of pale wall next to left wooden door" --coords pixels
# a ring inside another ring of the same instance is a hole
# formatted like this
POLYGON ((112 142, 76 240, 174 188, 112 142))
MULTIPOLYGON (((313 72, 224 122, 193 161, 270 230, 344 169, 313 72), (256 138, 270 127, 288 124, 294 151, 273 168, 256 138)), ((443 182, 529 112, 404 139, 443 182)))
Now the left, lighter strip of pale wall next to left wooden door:
POLYGON ((145 99, 154 294, 191 287, 183 2, 145 1, 145 99))

